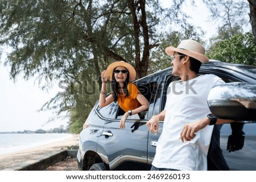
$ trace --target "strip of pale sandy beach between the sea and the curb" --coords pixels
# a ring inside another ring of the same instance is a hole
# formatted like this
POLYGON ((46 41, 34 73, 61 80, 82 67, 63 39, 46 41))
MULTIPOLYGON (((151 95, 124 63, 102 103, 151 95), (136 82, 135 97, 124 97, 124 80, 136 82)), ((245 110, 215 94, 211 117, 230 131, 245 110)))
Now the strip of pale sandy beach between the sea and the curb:
MULTIPOLYGON (((31 149, 21 150, 14 153, 2 154, 0 155, 0 170, 16 166, 19 163, 27 162, 28 160, 34 160, 42 155, 49 153, 54 153, 59 150, 67 150, 72 146, 79 145, 79 135, 72 135, 69 138, 63 139, 61 141, 48 143, 46 145, 33 147, 31 149)), ((75 159, 70 159, 72 162, 75 159)), ((54 170, 54 168, 51 168, 54 170)), ((61 168, 60 170, 63 170, 61 168)), ((65 170, 65 169, 64 169, 65 170)))

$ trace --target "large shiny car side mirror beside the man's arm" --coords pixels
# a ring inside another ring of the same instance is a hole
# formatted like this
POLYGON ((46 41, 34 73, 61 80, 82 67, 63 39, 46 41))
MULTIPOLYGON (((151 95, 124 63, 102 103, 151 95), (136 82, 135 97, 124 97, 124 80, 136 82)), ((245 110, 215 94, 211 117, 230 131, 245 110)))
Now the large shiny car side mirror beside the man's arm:
POLYGON ((207 101, 210 112, 218 118, 256 122, 256 84, 233 82, 215 86, 207 101))

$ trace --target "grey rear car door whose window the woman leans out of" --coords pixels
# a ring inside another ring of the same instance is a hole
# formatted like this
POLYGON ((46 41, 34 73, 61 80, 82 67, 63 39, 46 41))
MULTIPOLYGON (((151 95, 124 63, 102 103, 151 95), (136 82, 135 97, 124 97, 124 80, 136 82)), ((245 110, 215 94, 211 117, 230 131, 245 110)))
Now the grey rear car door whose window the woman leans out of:
MULTIPOLYGON (((155 81, 151 83, 148 80, 141 80, 136 84, 151 103, 155 95, 155 81)), ((98 139, 98 153, 105 154, 110 170, 149 170, 146 122, 151 109, 143 112, 144 118, 139 117, 138 114, 129 116, 125 122, 125 129, 119 128, 124 112, 118 104, 115 105, 114 110, 116 116, 106 120, 104 131, 98 139)))

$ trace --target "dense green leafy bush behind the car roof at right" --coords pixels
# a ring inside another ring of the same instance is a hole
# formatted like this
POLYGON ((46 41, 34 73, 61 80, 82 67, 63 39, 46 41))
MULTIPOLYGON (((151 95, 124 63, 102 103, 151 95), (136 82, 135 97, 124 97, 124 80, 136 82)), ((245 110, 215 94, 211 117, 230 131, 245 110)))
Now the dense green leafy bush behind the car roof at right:
POLYGON ((210 59, 256 65, 256 44, 251 32, 239 33, 230 39, 218 42, 217 45, 207 53, 210 59))

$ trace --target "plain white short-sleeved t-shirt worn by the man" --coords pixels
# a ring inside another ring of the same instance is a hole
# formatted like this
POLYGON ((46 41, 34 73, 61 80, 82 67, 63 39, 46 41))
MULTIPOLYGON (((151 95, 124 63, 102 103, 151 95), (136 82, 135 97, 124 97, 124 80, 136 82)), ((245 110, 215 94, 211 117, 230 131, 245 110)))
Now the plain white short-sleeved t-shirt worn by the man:
POLYGON ((156 146, 152 165, 175 170, 207 170, 207 153, 213 126, 206 126, 191 141, 181 142, 184 125, 200 120, 209 113, 207 97, 210 88, 225 83, 212 75, 200 75, 189 81, 170 83, 167 91, 163 132, 156 146))

